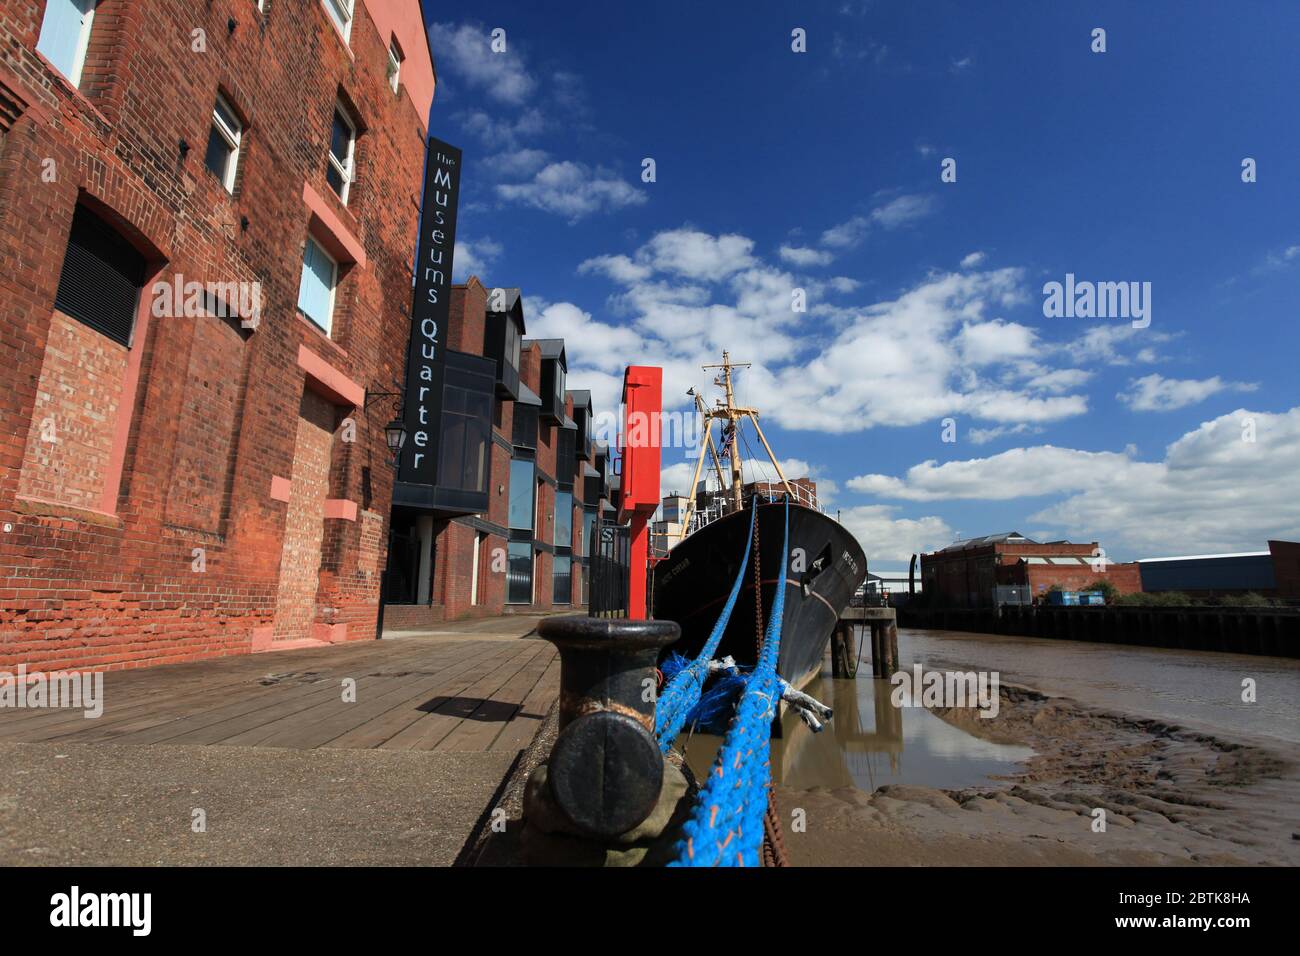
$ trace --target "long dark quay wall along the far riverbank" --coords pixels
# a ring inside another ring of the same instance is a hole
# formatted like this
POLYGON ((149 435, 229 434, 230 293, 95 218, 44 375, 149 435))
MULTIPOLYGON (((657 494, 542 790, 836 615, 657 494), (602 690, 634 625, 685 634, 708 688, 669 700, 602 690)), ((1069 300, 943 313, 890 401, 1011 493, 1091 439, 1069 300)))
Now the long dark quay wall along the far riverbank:
POLYGON ((1300 607, 900 607, 898 626, 1300 658, 1300 607))

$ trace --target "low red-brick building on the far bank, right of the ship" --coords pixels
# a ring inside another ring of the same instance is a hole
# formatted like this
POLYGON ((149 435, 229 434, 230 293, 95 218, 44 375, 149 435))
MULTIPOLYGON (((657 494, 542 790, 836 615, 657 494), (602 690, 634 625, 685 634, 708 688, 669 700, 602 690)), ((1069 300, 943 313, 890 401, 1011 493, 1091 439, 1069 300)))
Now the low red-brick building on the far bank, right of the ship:
POLYGON ((1136 562, 1098 561, 1096 541, 1040 542, 1009 531, 968 538, 933 554, 920 555, 922 588, 937 607, 980 607, 996 602, 996 588, 1028 588, 1035 598, 1053 584, 1063 591, 1083 591, 1110 581, 1121 593, 1141 591, 1136 562), (1105 568, 1095 570, 1096 568, 1105 568))

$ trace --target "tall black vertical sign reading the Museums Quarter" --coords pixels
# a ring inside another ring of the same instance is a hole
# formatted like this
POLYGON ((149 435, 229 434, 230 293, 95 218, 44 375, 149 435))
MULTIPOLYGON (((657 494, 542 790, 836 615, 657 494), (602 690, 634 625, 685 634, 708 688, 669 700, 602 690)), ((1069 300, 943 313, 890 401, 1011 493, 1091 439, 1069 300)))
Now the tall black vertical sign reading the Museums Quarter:
POLYGON ((399 481, 438 483, 442 377, 451 304, 451 254, 456 245, 460 150, 429 137, 424 170, 424 215, 415 261, 415 303, 407 349, 406 428, 399 481))

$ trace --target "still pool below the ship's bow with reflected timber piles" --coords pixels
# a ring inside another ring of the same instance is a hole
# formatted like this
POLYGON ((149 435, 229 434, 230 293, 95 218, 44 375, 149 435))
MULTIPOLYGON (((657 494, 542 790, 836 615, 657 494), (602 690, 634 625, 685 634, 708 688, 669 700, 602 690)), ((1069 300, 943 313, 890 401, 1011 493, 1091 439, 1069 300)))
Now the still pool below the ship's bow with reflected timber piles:
MULTIPOLYGON (((890 685, 870 670, 857 680, 823 672, 805 688, 835 709, 835 718, 814 734, 793 711, 772 740, 772 777, 790 790, 857 787, 872 791, 888 783, 959 790, 1010 773, 1034 754, 1028 747, 994 744, 971 736, 920 708, 894 708, 890 685)), ((708 771, 719 737, 684 734, 686 760, 698 775, 708 771), (689 743, 688 743, 689 741, 689 743)))

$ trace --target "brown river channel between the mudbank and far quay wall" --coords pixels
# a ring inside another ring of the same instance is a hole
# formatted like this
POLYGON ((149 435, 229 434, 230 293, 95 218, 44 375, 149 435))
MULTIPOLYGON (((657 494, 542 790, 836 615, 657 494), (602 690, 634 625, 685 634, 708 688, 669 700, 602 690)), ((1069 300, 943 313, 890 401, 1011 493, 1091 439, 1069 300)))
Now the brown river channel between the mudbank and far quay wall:
POLYGON ((1108 710, 1300 743, 1300 661, 1283 657, 911 630, 898 631, 898 657, 905 667, 996 670, 1108 710), (1245 678, 1253 704, 1242 701, 1245 678))

